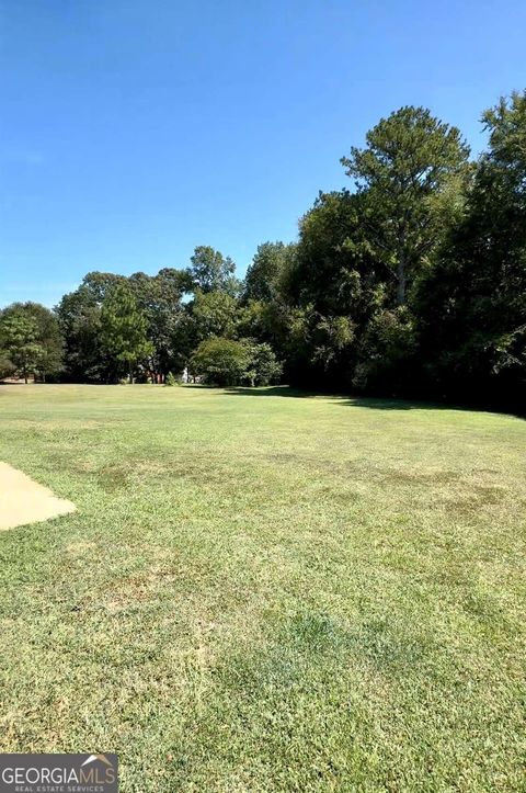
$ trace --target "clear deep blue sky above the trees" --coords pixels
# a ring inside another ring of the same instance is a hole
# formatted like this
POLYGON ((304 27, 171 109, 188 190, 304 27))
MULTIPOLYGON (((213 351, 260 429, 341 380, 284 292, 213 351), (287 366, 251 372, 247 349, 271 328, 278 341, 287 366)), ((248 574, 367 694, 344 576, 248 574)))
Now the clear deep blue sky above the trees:
POLYGON ((0 304, 196 245, 242 274, 400 105, 479 150, 525 54, 525 0, 0 0, 0 304))

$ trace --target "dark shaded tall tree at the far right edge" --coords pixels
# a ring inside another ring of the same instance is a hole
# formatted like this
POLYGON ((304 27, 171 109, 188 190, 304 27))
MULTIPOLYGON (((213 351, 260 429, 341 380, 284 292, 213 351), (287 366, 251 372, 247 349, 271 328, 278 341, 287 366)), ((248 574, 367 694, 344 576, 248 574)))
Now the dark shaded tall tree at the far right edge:
POLYGON ((526 404, 526 92, 487 111, 465 211, 418 294, 430 393, 526 404))

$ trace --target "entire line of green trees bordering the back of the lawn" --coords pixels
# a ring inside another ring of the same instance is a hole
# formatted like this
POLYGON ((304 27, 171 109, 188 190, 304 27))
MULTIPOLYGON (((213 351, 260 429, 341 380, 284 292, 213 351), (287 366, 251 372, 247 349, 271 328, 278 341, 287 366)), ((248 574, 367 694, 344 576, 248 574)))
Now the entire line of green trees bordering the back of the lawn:
POLYGON ((320 192, 296 242, 243 281, 195 249, 157 275, 89 273, 50 311, 0 315, 0 375, 66 382, 286 382, 311 389, 526 404, 526 91, 485 111, 477 158, 423 107, 382 118, 320 192))

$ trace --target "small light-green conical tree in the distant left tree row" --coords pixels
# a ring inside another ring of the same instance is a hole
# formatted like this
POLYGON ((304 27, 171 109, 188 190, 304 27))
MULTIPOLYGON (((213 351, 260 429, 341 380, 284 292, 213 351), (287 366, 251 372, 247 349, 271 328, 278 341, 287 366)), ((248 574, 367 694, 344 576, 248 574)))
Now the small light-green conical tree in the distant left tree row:
POLYGON ((134 369, 153 352, 147 336, 148 320, 137 298, 126 284, 116 284, 104 298, 101 308, 101 344, 114 362, 115 371, 126 367, 133 383, 134 369))

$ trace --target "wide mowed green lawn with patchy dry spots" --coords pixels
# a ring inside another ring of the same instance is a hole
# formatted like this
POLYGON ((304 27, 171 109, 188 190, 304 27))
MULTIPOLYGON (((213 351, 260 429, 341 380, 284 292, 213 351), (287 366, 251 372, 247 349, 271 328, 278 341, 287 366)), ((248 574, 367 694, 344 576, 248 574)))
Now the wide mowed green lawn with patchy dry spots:
POLYGON ((524 791, 526 422, 286 388, 0 388, 78 512, 0 534, 0 747, 122 791, 524 791))

